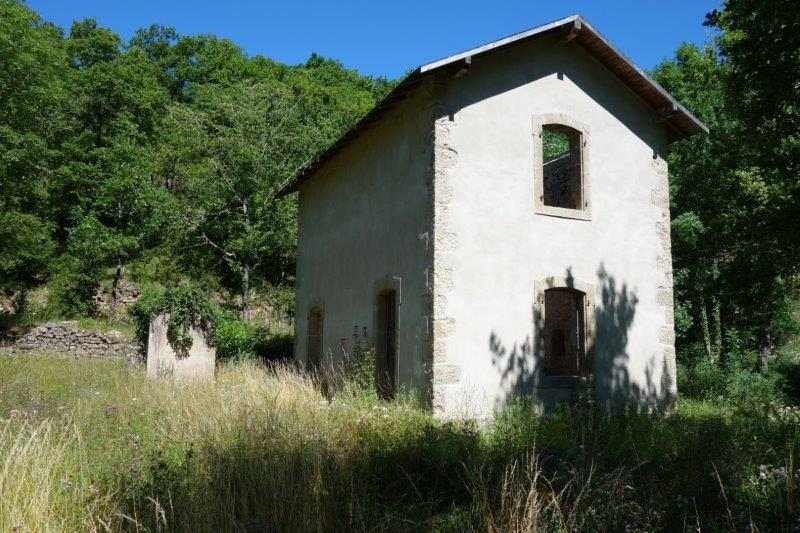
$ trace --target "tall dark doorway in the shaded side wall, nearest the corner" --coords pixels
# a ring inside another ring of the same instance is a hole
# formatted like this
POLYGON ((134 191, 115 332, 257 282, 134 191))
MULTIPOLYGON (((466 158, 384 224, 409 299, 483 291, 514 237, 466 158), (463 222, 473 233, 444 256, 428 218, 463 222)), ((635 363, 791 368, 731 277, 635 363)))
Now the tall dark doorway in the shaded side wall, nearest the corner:
POLYGON ((397 390, 397 293, 387 290, 378 295, 375 346, 375 384, 386 400, 397 390))

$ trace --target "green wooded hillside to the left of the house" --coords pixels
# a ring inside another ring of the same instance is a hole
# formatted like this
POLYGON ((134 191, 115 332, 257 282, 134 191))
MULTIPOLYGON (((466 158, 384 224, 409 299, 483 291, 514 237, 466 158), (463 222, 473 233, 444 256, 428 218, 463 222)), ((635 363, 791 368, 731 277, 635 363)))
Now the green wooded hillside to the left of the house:
POLYGON ((277 186, 390 87, 159 25, 63 32, 15 0, 0 55, 0 290, 52 277, 66 315, 136 268, 228 291, 246 318, 252 291, 293 281, 295 200, 277 186))

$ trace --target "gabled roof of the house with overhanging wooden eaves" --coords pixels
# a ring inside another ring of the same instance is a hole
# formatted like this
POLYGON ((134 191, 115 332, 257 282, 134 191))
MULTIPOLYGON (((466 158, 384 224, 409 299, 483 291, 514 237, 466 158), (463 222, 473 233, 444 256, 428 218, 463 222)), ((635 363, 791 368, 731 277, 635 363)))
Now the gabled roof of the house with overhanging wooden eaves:
POLYGON ((417 67, 361 120, 326 150, 300 167, 278 191, 280 196, 297 191, 298 186, 322 168, 334 155, 347 146, 368 124, 380 119, 395 102, 402 99, 420 81, 444 69, 468 68, 472 58, 479 55, 527 42, 545 35, 563 35, 583 47, 590 55, 616 75, 629 89, 644 100, 668 127, 670 140, 676 141, 697 133, 708 133, 708 128, 688 109, 682 106, 661 85, 625 57, 608 39, 580 15, 572 15, 549 24, 537 26, 502 39, 432 61, 417 67))

